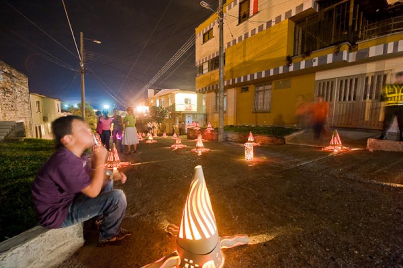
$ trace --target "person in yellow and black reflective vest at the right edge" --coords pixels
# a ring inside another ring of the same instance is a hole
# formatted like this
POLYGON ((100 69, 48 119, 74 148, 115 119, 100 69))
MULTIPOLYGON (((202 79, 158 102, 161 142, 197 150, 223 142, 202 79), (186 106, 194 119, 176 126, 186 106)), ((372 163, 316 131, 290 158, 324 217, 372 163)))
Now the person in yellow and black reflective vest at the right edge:
POLYGON ((383 120, 382 135, 379 139, 387 139, 387 131, 396 116, 400 130, 399 141, 403 142, 403 72, 396 74, 394 84, 387 84, 382 88, 382 101, 385 103, 385 119, 383 120))

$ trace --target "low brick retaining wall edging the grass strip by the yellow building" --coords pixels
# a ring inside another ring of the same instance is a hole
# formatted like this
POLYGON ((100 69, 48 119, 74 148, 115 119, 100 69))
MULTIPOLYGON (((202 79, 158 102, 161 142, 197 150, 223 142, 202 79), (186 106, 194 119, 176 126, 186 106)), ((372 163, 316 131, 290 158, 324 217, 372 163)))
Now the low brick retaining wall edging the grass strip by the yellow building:
MULTIPOLYGON (((198 134, 207 141, 218 141, 218 132, 216 130, 208 131, 206 129, 187 130, 187 139, 193 140, 197 138, 198 134)), ((229 132, 224 131, 225 140, 227 142, 246 143, 248 141, 249 133, 229 132)), ((283 137, 271 137, 265 135, 253 135, 255 142, 260 145, 282 145, 286 143, 283 137)))

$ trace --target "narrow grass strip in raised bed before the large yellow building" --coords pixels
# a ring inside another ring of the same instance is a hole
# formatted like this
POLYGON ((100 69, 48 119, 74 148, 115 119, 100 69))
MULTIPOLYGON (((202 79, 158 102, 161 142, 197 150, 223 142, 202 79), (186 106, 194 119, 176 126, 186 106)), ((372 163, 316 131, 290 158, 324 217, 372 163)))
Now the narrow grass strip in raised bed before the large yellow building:
MULTIPOLYGON (((216 128, 217 130, 218 128, 216 128)), ((300 130, 299 128, 283 127, 283 126, 244 126, 244 125, 226 125, 224 131, 252 133, 255 135, 267 135, 272 137, 285 137, 300 130)))

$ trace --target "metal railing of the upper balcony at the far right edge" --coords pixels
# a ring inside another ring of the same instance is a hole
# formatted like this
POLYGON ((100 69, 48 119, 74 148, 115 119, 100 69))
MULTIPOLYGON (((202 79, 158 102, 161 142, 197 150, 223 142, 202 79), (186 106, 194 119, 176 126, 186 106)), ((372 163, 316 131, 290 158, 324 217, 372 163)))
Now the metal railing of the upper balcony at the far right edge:
POLYGON ((394 17, 365 25, 362 29, 361 40, 403 31, 403 16, 394 17))

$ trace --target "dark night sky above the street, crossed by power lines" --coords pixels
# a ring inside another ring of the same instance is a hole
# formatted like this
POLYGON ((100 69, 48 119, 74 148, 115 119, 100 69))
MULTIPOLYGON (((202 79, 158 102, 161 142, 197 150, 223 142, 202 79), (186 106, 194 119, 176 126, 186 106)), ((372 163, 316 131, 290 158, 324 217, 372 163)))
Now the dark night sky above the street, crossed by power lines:
MULTIPOLYGON (((7 2, 0 0, 0 60, 28 76, 31 92, 59 98, 69 104, 80 102, 80 73, 75 71, 79 70, 79 59, 61 0, 7 2), (7 2, 71 53, 46 36, 7 2), (62 61, 62 65, 72 66, 73 70, 45 59, 43 55, 49 56, 45 51, 62 61)), ((121 87, 132 63, 167 9, 118 94, 128 103, 131 96, 146 85, 194 34, 194 28, 212 13, 200 7, 198 0, 65 0, 64 3, 79 49, 80 32, 84 33, 85 38, 101 41, 101 44, 96 44, 85 40, 86 64, 114 92, 121 87)), ((218 1, 212 0, 210 4, 215 9, 218 1)), ((194 61, 192 46, 152 88, 194 90, 194 61), (181 63, 177 71, 167 78, 181 63)), ((100 84, 87 71, 86 101, 95 108, 103 104, 122 108, 100 84)))

